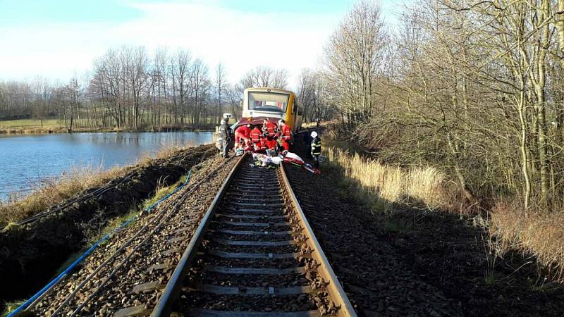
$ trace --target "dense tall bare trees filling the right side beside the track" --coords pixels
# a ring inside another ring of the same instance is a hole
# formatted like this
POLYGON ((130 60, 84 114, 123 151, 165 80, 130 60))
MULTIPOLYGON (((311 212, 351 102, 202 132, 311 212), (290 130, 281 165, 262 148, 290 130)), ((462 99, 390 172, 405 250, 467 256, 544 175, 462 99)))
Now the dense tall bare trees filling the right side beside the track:
POLYGON ((563 70, 564 0, 417 0, 395 25, 360 1, 300 97, 324 99, 365 151, 438 166, 472 204, 550 211, 564 194, 563 70))

